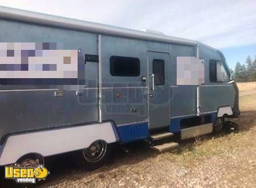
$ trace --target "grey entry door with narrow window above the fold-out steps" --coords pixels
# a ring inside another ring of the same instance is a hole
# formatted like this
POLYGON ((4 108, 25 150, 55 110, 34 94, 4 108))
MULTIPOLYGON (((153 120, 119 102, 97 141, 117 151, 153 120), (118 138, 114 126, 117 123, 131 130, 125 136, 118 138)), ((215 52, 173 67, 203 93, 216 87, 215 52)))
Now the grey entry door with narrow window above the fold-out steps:
POLYGON ((169 53, 148 52, 150 129, 169 126, 169 53))

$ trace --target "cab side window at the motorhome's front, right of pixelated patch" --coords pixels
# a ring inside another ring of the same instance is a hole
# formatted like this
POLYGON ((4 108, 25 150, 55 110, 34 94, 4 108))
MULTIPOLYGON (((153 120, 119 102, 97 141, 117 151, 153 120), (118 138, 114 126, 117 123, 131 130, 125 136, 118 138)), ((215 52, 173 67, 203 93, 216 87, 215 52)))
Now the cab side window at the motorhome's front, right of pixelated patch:
POLYGON ((211 82, 228 82, 229 75, 221 61, 210 61, 210 81, 211 82))

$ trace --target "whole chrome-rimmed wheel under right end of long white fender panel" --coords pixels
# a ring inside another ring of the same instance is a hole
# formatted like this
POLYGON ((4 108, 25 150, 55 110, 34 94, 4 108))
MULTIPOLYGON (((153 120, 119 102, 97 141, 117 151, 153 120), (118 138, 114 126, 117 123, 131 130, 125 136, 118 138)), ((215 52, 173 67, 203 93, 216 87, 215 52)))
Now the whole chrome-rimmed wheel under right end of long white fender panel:
POLYGON ((112 155, 112 145, 104 140, 96 140, 88 148, 82 149, 85 167, 89 170, 97 169, 106 163, 112 155))

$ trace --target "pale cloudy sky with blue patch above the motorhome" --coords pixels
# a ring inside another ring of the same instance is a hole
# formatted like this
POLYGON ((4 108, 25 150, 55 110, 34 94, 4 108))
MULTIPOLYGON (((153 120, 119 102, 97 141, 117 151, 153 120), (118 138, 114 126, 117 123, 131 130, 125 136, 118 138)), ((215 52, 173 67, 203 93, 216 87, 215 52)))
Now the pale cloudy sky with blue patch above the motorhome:
POLYGON ((255 0, 0 0, 0 5, 203 42, 229 67, 256 55, 255 0))

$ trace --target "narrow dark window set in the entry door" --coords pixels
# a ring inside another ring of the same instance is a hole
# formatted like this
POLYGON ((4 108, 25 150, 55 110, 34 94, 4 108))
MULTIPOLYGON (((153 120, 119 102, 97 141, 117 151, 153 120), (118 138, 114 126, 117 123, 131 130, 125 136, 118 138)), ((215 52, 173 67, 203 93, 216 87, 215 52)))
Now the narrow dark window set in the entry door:
POLYGON ((164 85, 164 60, 153 59, 153 74, 155 85, 164 85))

